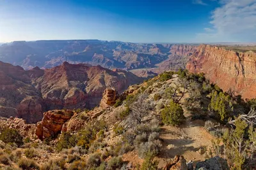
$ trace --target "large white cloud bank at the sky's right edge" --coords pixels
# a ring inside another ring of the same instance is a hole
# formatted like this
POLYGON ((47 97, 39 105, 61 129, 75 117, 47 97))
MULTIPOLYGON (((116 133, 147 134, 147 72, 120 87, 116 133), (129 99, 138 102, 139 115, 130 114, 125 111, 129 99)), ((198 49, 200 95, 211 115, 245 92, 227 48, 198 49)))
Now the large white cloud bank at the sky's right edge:
POLYGON ((205 32, 216 32, 221 41, 256 41, 256 0, 221 0, 220 4, 212 11, 213 29, 205 28, 205 32))

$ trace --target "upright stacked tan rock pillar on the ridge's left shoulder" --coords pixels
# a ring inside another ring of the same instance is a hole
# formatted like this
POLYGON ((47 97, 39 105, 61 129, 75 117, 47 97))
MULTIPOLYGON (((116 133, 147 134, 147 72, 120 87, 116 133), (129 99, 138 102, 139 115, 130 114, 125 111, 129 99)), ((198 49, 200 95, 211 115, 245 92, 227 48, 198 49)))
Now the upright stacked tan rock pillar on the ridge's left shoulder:
POLYGON ((108 108, 116 103, 117 92, 114 88, 107 88, 103 92, 103 97, 100 101, 102 108, 108 108))

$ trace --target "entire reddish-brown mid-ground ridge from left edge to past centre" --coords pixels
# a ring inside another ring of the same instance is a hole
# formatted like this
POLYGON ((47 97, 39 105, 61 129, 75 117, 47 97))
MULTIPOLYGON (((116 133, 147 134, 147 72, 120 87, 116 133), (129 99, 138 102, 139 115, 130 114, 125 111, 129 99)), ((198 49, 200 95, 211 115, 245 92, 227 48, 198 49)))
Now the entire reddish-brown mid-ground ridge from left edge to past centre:
POLYGON ((51 69, 22 67, 0 62, 0 116, 19 117, 28 123, 43 118, 44 111, 63 108, 93 108, 106 87, 118 92, 140 83, 132 73, 88 64, 68 64, 51 69))

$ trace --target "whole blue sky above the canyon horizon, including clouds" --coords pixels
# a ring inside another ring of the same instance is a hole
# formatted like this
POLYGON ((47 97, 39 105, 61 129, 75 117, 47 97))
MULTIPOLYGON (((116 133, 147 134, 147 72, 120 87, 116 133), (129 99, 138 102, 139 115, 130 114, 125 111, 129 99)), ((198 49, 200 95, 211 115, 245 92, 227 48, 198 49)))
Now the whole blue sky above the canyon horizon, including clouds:
POLYGON ((256 41, 256 0, 0 0, 0 42, 256 41))

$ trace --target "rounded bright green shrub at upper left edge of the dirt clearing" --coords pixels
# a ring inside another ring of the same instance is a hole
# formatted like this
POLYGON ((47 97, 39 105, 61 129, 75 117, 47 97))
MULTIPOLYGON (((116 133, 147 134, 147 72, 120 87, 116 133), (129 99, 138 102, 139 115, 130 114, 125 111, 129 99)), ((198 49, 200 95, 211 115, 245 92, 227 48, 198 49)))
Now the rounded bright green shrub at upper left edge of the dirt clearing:
POLYGON ((170 106, 165 106, 161 111, 161 118, 166 125, 180 125, 185 120, 182 107, 173 100, 170 102, 170 106))

